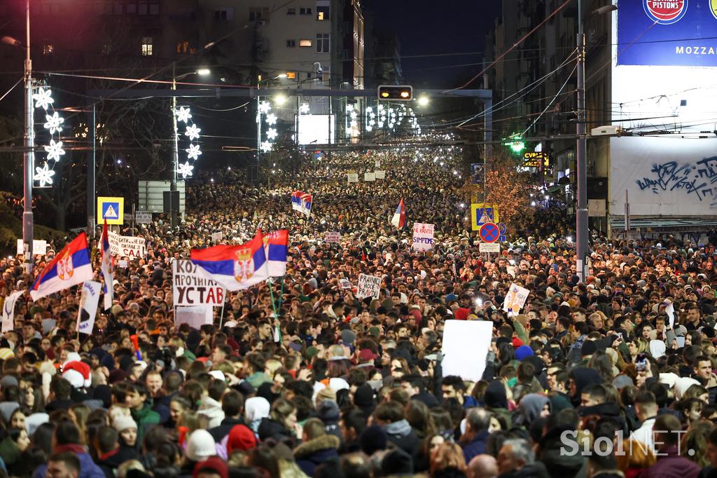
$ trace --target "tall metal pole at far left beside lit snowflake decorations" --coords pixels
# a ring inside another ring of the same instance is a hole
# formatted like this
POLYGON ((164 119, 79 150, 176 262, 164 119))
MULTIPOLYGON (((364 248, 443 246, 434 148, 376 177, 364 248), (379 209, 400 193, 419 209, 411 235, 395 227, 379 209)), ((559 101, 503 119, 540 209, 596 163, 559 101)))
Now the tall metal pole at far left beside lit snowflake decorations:
POLYGON ((25 1, 25 151, 23 164, 23 197, 24 211, 22 212, 22 243, 25 252, 25 271, 32 273, 32 168, 34 166, 34 118, 32 109, 32 60, 30 59, 30 0, 25 1))

